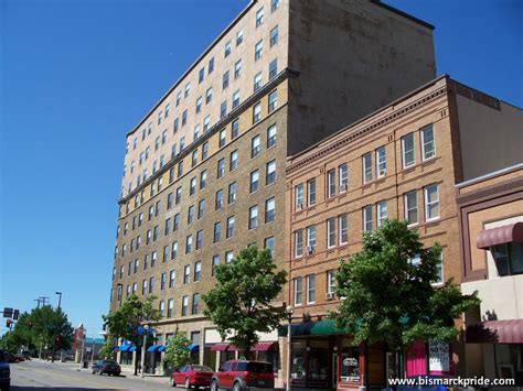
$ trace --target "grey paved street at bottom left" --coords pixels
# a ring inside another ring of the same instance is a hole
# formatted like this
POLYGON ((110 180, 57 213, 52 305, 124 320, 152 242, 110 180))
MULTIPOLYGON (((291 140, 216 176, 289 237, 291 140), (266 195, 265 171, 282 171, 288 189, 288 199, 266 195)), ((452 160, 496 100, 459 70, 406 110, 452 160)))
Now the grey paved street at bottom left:
MULTIPOLYGON (((167 378, 140 379, 134 376, 108 377, 78 370, 72 363, 24 361, 11 365, 12 391, 87 391, 87 390, 175 390, 167 378)), ((181 389, 178 389, 181 390, 181 389)))

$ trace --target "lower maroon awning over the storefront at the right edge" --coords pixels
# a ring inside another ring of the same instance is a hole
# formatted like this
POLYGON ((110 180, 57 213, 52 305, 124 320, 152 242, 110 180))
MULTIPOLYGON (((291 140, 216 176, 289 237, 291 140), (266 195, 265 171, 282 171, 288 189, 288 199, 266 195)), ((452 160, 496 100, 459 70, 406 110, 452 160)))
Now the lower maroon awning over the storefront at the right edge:
POLYGON ((523 319, 489 321, 467 327, 467 344, 523 344, 523 319))

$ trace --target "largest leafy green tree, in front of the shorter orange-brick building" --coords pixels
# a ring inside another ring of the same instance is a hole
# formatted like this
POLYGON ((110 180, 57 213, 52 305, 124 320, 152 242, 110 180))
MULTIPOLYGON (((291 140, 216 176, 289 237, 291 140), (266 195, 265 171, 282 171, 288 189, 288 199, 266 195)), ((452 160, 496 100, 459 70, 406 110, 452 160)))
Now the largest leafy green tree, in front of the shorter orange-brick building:
POLYGON ((401 350, 417 340, 449 343, 453 319, 479 305, 453 281, 433 285, 441 247, 424 248, 406 221, 389 220, 364 235, 363 251, 341 261, 335 294, 344 300, 331 317, 354 335, 354 344, 385 343, 401 350), (419 261, 417 261, 419 260, 419 261))

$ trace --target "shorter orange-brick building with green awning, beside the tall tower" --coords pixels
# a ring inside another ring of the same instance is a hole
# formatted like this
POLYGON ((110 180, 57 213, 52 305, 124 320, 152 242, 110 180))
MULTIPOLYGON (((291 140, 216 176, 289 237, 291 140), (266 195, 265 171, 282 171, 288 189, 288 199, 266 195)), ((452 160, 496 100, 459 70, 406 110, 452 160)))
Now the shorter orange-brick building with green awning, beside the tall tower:
MULTIPOLYGON (((442 76, 289 158, 292 384, 386 387, 392 354, 381 345, 352 346, 327 318, 340 303, 340 259, 362 249, 363 232, 406 219, 427 247, 442 246, 435 284, 461 281, 455 186, 521 161, 522 119, 521 109, 442 76)), ((462 373, 462 344, 435 348, 442 357, 428 359, 428 346, 415 344, 406 374, 462 373)))

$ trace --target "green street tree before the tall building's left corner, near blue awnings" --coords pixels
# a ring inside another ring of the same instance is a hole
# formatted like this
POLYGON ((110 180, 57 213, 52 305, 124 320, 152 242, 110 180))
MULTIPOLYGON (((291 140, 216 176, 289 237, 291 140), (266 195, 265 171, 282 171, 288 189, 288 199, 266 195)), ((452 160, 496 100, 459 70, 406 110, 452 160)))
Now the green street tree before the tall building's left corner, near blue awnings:
MULTIPOLYGON (((140 347, 143 337, 139 335, 138 328, 145 324, 154 324, 161 318, 160 312, 152 305, 156 298, 156 296, 147 296, 146 301, 141 302, 137 295, 132 294, 120 308, 108 315, 103 315, 104 323, 109 330, 108 339, 122 338, 140 347)), ((138 360, 135 362, 135 374, 137 372, 138 360)))

